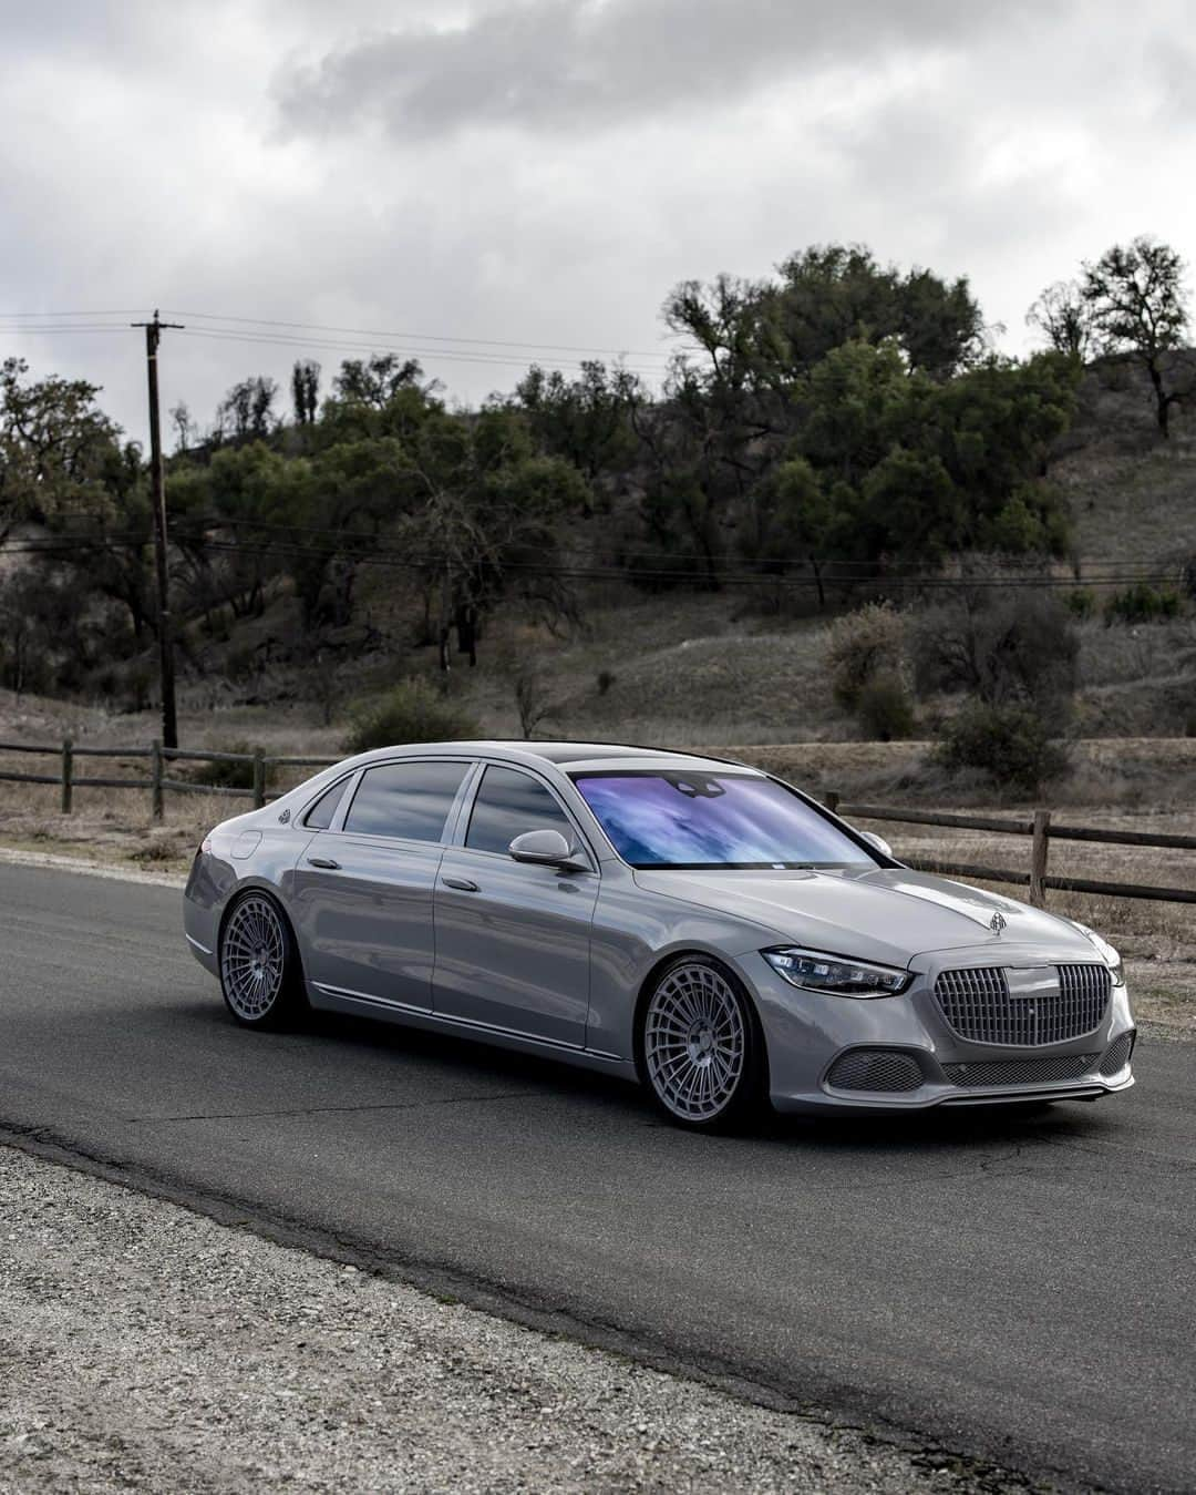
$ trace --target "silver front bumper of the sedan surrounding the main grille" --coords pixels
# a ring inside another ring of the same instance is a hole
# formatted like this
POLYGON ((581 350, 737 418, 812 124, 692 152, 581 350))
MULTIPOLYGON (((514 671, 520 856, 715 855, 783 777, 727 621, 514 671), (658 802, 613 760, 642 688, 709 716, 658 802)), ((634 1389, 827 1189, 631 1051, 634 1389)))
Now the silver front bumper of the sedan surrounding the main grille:
POLYGON ((915 981, 902 996, 873 1000, 800 991, 761 955, 742 957, 764 1030, 772 1105, 788 1112, 896 1115, 935 1106, 1094 1100, 1129 1090, 1135 1027, 1124 987, 1112 988, 1096 1029, 1065 1042, 981 1044, 953 1032, 935 997, 939 972, 1018 961, 1072 964, 1077 951, 1011 945, 999 958, 991 946, 947 951, 915 961, 915 981))

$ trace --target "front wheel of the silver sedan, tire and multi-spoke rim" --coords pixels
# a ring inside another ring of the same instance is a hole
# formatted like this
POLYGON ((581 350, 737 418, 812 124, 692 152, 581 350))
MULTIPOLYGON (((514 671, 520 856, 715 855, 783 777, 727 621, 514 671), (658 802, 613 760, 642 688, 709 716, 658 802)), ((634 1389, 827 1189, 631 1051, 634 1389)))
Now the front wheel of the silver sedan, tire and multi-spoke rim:
POLYGON ((678 1126, 721 1132, 763 1109, 764 1044, 742 982, 709 955, 678 955, 652 979, 639 1020, 641 1073, 678 1126))

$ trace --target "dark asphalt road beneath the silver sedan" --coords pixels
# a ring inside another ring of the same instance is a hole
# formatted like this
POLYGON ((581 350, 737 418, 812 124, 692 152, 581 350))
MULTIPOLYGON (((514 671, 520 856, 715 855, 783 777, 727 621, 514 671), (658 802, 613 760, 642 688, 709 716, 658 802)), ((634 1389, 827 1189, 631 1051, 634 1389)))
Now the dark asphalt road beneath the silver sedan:
POLYGON ((0 866, 0 1141, 1065 1486, 1192 1491, 1196 1045, 1135 1067, 1042 1114, 691 1136, 461 1041, 245 1033, 178 893, 0 866))

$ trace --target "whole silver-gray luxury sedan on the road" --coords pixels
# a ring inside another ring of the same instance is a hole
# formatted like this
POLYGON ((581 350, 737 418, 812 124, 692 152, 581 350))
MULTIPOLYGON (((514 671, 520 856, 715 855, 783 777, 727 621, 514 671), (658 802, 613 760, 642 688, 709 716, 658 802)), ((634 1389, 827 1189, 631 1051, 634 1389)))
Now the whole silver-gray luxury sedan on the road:
POLYGON ((675 1121, 1093 1100, 1117 952, 903 867, 738 762, 603 743, 351 758, 218 825, 191 949, 254 1029, 366 1014, 641 1081, 675 1121))

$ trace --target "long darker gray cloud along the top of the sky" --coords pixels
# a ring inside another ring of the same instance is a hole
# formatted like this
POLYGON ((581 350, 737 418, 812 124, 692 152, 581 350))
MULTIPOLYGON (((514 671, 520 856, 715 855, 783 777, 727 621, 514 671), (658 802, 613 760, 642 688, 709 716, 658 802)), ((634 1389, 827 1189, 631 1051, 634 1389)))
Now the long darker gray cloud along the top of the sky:
POLYGON ((1024 0, 524 0, 458 25, 409 25, 278 79, 294 132, 381 120, 397 136, 469 126, 593 130, 1009 25, 1024 0))

